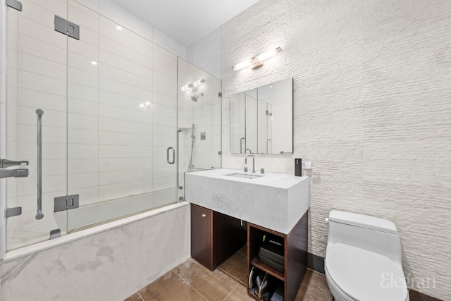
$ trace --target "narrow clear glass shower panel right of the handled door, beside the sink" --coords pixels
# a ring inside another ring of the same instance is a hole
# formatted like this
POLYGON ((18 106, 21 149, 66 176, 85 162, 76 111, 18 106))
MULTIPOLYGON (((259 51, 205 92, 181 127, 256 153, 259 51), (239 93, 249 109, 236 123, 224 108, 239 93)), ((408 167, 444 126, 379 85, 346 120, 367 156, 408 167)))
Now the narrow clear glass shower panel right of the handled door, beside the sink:
POLYGON ((184 173, 221 167, 221 80, 178 61, 178 198, 184 173))

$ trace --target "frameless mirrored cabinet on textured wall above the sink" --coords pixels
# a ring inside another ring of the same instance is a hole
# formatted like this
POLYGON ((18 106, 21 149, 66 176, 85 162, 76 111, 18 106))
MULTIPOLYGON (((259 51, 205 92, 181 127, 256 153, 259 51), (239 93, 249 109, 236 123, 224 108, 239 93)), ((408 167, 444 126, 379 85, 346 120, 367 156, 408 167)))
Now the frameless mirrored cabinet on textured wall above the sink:
POLYGON ((230 96, 230 152, 293 152, 293 79, 230 96))

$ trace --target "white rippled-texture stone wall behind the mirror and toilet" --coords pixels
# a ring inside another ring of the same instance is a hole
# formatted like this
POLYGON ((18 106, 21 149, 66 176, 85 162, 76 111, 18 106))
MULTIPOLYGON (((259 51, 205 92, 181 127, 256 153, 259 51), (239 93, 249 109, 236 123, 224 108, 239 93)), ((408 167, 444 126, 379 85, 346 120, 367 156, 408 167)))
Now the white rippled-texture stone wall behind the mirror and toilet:
POLYGON ((309 252, 325 255, 330 209, 390 219, 409 286, 451 300, 451 1, 261 0, 221 27, 221 77, 223 167, 239 169, 230 94, 294 78, 295 153, 255 161, 313 162, 309 252))

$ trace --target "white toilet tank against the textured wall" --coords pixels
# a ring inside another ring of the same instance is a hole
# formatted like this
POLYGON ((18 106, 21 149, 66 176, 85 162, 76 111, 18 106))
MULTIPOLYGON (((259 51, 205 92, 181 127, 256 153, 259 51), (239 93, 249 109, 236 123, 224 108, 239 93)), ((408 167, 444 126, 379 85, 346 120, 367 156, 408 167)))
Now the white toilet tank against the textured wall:
POLYGON ((392 221, 333 210, 329 213, 326 249, 337 242, 383 254, 401 265, 401 242, 392 221))

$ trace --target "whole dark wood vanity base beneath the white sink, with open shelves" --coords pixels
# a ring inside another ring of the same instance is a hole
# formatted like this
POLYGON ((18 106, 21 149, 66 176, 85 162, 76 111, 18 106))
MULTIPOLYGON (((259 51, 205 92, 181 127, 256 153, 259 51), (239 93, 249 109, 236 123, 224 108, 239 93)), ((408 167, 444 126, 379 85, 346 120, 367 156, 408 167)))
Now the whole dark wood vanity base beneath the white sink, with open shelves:
MULTIPOLYGON (((285 301, 294 301, 307 270, 309 211, 290 233, 283 234, 253 223, 191 204, 191 256, 207 269, 214 271, 247 242, 247 269, 254 267, 272 278, 283 288, 285 301), (247 226, 245 226, 245 224, 247 226), (284 271, 280 272, 259 259, 264 235, 276 235, 283 240, 284 271)), ((257 295, 248 293, 254 299, 257 295)))

